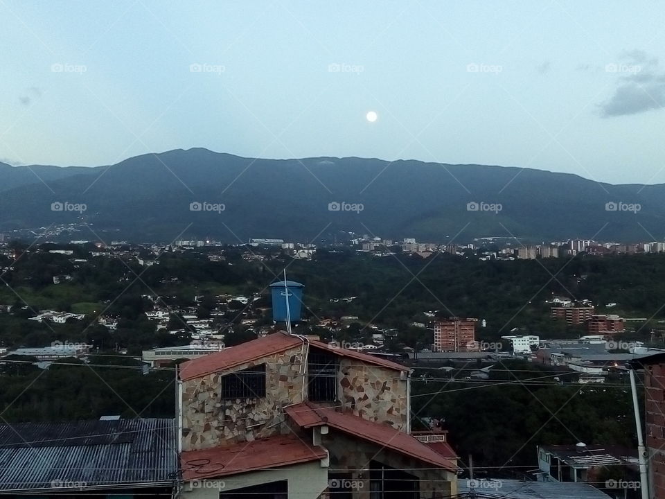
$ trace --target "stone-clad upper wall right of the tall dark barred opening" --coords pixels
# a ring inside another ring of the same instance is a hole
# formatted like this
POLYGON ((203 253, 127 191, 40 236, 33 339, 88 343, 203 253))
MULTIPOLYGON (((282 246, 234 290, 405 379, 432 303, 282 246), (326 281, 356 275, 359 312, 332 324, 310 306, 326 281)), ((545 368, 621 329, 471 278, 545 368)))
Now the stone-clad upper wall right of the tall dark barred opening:
POLYGON ((409 418, 407 378, 400 372, 353 358, 339 364, 339 400, 347 410, 369 421, 406 428, 409 418))

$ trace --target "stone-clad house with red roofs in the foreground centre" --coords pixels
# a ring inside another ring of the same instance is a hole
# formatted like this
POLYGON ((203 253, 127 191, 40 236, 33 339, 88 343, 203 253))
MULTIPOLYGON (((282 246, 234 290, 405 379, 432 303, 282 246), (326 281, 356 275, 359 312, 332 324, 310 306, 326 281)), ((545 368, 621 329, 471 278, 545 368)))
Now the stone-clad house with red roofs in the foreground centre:
POLYGON ((389 360, 283 332, 184 362, 181 497, 455 494, 459 468, 450 447, 411 435, 410 374, 389 360))

